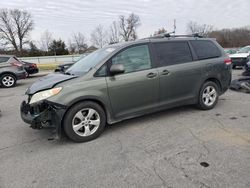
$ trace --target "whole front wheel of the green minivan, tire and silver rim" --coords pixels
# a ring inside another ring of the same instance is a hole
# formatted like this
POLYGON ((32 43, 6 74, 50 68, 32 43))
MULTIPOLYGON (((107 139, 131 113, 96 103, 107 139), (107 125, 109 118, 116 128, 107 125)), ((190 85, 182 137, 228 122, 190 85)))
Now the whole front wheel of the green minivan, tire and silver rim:
POLYGON ((66 114, 63 127, 66 135, 75 142, 87 142, 97 138, 106 125, 106 114, 94 102, 74 105, 66 114))

